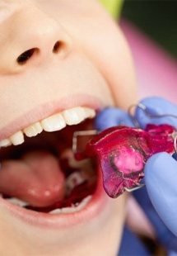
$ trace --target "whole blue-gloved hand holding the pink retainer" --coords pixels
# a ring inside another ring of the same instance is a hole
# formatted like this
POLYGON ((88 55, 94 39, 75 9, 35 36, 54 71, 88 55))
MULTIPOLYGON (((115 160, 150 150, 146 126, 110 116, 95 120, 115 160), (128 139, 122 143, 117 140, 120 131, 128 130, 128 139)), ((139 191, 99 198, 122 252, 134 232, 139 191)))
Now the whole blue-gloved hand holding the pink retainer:
MULTIPOLYGON (((160 97, 149 97, 142 100, 141 103, 147 107, 147 111, 153 116, 164 114, 177 116, 177 106, 160 97)), ((135 118, 142 128, 147 123, 168 123, 177 129, 177 119, 174 117, 150 118, 139 107, 135 111, 135 118)), ((95 121, 95 126, 98 130, 105 130, 109 126, 118 125, 133 126, 133 122, 128 113, 117 108, 105 109, 105 111, 100 112, 95 121)), ((153 155, 148 159, 145 166, 145 183, 147 190, 144 187, 133 194, 152 225, 154 225, 156 235, 161 243, 167 249, 177 251, 177 162, 175 159, 166 153, 153 155), (151 201, 148 199, 147 192, 151 201), (161 216, 161 219, 156 212, 161 216)))

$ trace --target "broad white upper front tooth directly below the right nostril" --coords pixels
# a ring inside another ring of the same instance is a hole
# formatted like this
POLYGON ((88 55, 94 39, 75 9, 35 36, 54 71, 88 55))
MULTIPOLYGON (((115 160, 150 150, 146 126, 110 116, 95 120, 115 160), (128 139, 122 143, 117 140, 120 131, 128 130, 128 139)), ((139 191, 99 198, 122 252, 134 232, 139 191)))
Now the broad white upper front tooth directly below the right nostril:
POLYGON ((49 116, 40 122, 45 131, 62 130, 66 126, 66 122, 61 114, 49 116))

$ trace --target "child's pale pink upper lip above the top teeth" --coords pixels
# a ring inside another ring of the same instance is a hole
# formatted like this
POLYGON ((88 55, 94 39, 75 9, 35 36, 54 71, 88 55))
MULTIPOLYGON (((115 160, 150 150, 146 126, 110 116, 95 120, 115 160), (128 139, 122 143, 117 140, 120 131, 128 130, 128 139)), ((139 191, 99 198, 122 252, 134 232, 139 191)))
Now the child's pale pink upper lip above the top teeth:
POLYGON ((19 116, 16 120, 9 123, 7 126, 0 130, 0 140, 7 139, 18 130, 23 130, 26 126, 30 126, 36 121, 40 121, 47 116, 51 116, 56 112, 63 111, 68 108, 84 106, 91 107, 98 110, 103 107, 103 102, 97 97, 89 97, 86 95, 80 95, 79 97, 67 97, 59 99, 58 102, 47 102, 42 106, 35 107, 26 112, 22 116, 19 116))

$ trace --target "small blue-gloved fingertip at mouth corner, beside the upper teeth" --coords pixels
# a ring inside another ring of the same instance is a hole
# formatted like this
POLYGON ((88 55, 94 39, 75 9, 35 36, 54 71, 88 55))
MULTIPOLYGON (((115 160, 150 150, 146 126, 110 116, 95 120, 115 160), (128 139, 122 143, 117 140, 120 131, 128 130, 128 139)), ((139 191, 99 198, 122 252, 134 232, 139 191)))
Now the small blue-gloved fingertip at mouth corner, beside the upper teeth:
POLYGON ((112 126, 133 126, 131 117, 126 111, 116 107, 108 107, 100 111, 95 119, 95 128, 105 130, 112 126))

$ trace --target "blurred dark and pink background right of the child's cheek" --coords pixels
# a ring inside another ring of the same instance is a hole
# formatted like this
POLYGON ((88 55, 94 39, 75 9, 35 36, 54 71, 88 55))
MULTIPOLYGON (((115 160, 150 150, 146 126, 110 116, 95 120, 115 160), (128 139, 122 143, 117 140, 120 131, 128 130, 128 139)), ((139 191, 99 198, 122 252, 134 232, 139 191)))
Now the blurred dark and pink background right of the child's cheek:
POLYGON ((177 0, 124 0, 119 24, 133 55, 138 97, 176 104, 177 0))

